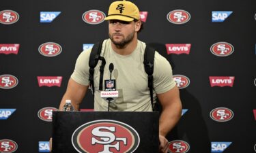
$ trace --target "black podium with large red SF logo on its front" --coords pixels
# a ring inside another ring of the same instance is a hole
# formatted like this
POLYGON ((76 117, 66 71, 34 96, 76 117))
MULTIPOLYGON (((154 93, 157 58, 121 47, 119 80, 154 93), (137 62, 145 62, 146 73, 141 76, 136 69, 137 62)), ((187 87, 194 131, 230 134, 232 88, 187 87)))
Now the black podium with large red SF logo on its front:
POLYGON ((53 153, 157 153, 158 112, 53 112, 53 153))

